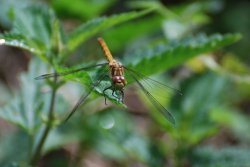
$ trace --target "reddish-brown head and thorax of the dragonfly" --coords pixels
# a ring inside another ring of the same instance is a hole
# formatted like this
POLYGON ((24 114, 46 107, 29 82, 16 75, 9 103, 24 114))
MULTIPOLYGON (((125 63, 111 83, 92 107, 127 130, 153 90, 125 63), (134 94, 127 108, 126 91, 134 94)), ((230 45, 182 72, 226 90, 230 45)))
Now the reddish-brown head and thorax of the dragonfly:
POLYGON ((111 71, 113 86, 115 86, 116 89, 123 89, 123 87, 126 85, 123 65, 113 60, 109 63, 109 67, 111 71))

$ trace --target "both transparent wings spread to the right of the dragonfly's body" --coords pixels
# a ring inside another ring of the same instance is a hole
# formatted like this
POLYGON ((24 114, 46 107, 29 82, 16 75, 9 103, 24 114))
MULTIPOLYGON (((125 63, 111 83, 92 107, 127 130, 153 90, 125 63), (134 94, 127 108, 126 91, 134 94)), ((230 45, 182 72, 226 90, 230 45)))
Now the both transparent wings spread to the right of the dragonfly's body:
POLYGON ((143 74, 140 74, 138 72, 135 72, 134 70, 131 70, 127 67, 124 67, 128 73, 130 74, 130 76, 133 78, 133 80, 135 80, 135 82, 137 83, 137 85, 141 88, 141 90, 143 91, 143 93, 146 95, 146 97, 150 100, 150 102, 156 107, 156 109, 163 114, 163 116, 172 124, 175 124, 175 119, 172 116, 172 114, 165 108, 163 107, 163 105, 156 100, 156 98, 146 89, 146 87, 138 80, 138 78, 142 79, 142 78, 146 78, 143 82, 145 82, 146 84, 148 83, 147 80, 149 80, 152 83, 157 83, 158 85, 162 85, 164 87, 167 87, 168 89, 171 88, 173 89, 175 92, 177 92, 178 94, 181 94, 181 92, 178 89, 172 88, 168 85, 165 85, 163 83, 160 83, 156 80, 153 80, 149 77, 144 76, 143 74))

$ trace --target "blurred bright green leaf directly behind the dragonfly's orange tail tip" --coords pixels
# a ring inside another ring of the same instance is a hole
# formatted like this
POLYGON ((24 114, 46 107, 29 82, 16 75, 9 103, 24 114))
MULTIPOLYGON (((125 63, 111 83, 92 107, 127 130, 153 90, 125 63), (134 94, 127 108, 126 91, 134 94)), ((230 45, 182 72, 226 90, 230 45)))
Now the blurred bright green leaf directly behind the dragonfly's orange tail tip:
MULTIPOLYGON (((103 32, 102 36, 106 41, 112 41, 108 44, 112 48, 112 52, 116 53, 120 50, 126 50, 126 47, 131 47, 132 45, 135 45, 132 49, 145 45, 148 41, 140 38, 144 39, 145 34, 156 33, 161 29, 161 24, 161 16, 149 15, 145 18, 129 21, 126 24, 110 28, 109 31, 103 32)), ((119 55, 116 56, 120 57, 119 55)))

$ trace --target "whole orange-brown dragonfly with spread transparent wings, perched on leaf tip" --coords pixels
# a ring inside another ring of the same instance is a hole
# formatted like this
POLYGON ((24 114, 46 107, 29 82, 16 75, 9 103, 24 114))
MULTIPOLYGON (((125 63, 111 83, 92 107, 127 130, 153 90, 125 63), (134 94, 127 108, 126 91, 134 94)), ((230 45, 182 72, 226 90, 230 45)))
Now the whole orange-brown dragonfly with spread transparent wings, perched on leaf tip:
POLYGON ((95 89, 95 87, 98 86, 100 84, 100 82, 107 77, 109 78, 109 80, 111 80, 111 85, 102 90, 102 94, 105 97, 105 104, 106 104, 106 98, 108 97, 107 96, 108 90, 112 91, 113 97, 115 97, 116 99, 118 99, 119 101, 124 103, 124 88, 127 85, 127 80, 125 78, 125 71, 126 71, 129 74, 129 76, 137 83, 139 88, 141 88, 142 92, 146 95, 146 97, 149 99, 149 101, 155 106, 157 111, 159 111, 172 124, 175 124, 175 118, 173 117, 173 115, 159 101, 157 101, 157 99, 148 91, 148 89, 142 84, 142 81, 140 81, 140 78, 144 78, 150 82, 154 82, 158 85, 162 85, 162 86, 166 87, 167 89, 170 88, 180 95, 181 95, 181 92, 178 89, 172 88, 168 85, 165 85, 161 82, 158 82, 157 80, 149 78, 141 73, 138 73, 137 71, 135 71, 133 69, 130 69, 130 68, 124 66, 122 63, 120 63, 119 61, 117 61, 116 59, 113 58, 106 42, 101 37, 99 37, 97 40, 98 40, 98 43, 100 44, 100 46, 103 50, 104 56, 107 60, 106 63, 95 64, 95 65, 75 69, 72 71, 61 72, 61 73, 43 74, 43 75, 40 75, 40 76, 35 78, 36 80, 47 79, 47 78, 52 78, 52 77, 65 76, 65 75, 69 75, 69 74, 80 72, 80 71, 87 71, 87 70, 90 70, 90 69, 93 69, 96 67, 104 67, 104 66, 107 67, 108 66, 109 75, 107 75, 108 71, 104 71, 99 76, 99 78, 97 79, 97 82, 93 84, 92 88, 79 99, 79 101, 76 103, 76 105, 71 110, 69 115, 66 117, 65 121, 67 121, 75 113, 75 111, 87 99, 87 97, 91 94, 91 92, 95 89), (120 94, 120 96, 118 96, 117 94, 120 94))

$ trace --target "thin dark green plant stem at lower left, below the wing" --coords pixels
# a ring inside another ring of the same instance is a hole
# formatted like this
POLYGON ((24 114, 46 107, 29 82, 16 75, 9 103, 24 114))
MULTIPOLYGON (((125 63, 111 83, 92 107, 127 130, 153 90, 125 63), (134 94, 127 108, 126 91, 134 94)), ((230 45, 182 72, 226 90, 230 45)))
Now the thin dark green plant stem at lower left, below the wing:
POLYGON ((40 141, 38 142, 37 148, 34 151, 33 157, 31 158, 30 165, 36 166, 40 157, 43 145, 48 137, 48 134, 52 128, 53 121, 54 121, 54 104, 55 104, 55 97, 56 97, 56 90, 57 90, 57 77, 54 78, 54 84, 52 86, 52 94, 51 94, 51 100, 50 100, 50 107, 49 107, 49 113, 48 113, 48 122, 45 126, 45 129, 43 131, 42 137, 40 141))

